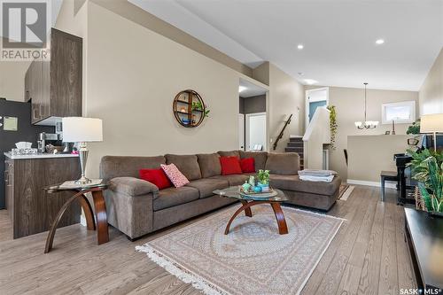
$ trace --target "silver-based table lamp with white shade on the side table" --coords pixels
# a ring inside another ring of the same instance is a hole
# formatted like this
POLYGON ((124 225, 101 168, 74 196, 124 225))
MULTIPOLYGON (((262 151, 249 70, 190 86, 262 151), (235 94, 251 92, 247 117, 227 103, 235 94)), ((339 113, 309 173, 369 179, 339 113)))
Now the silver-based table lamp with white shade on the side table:
POLYGON ((62 119, 63 142, 78 143, 80 167, 82 167, 82 178, 75 181, 76 184, 88 184, 90 179, 86 178, 86 162, 88 161, 88 149, 86 143, 103 141, 103 122, 101 119, 66 117, 62 119))

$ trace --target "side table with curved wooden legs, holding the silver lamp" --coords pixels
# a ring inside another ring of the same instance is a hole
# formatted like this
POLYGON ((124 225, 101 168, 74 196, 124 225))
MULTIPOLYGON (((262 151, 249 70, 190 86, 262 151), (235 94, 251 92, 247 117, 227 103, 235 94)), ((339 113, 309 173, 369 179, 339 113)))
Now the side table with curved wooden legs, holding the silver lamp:
POLYGON ((97 228, 97 244, 102 245, 109 242, 109 232, 108 232, 108 221, 106 214, 106 205, 105 198, 103 197, 103 190, 106 190, 107 185, 104 183, 91 185, 88 187, 78 188, 78 189, 65 189, 60 188, 59 185, 50 186, 44 188, 48 193, 58 193, 61 191, 73 191, 74 195, 71 198, 68 198, 66 203, 60 208, 58 211, 56 218, 52 221, 50 232, 46 239, 46 246, 44 248, 44 252, 48 253, 52 249, 52 243, 54 241, 55 232, 58 227, 58 222, 62 218, 66 209, 74 203, 74 201, 78 200, 80 205, 83 208, 83 212, 86 218, 86 225, 88 230, 96 230, 97 228), (89 204, 88 198, 86 198, 87 193, 92 194, 92 199, 94 202, 94 208, 96 212, 96 222, 94 221, 92 207, 89 204))

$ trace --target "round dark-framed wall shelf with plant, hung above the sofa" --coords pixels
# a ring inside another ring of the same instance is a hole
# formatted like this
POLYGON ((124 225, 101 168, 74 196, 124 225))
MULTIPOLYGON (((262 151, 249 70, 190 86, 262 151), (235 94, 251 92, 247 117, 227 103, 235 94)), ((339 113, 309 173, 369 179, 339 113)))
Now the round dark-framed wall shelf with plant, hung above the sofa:
POLYGON ((183 127, 198 127, 205 120, 206 105, 197 91, 187 89, 179 92, 172 108, 175 119, 183 127))

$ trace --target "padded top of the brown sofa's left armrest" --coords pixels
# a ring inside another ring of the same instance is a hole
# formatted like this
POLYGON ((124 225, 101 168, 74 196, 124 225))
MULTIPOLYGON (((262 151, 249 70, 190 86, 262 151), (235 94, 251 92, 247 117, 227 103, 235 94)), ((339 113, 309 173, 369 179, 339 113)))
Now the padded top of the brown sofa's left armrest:
POLYGON ((158 196, 159 192, 156 185, 135 177, 115 177, 109 181, 109 190, 131 197, 152 193, 154 198, 158 196))

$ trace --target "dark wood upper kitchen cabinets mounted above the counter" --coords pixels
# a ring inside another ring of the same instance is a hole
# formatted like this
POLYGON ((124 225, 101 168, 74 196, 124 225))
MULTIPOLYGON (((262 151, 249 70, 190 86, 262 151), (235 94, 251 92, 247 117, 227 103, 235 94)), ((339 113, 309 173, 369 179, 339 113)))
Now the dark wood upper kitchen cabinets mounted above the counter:
POLYGON ((51 28, 51 61, 34 60, 25 75, 33 124, 82 116, 82 38, 51 28))

